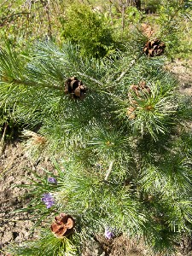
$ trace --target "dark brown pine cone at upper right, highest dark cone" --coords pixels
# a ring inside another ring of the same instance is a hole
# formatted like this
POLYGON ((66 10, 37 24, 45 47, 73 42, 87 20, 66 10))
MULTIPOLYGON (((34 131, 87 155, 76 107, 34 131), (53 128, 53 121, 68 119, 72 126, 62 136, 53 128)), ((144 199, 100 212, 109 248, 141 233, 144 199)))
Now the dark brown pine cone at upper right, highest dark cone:
POLYGON ((145 44, 143 51, 149 57, 154 57, 162 55, 165 48, 165 43, 160 42, 160 39, 154 38, 154 40, 149 40, 148 43, 145 44))

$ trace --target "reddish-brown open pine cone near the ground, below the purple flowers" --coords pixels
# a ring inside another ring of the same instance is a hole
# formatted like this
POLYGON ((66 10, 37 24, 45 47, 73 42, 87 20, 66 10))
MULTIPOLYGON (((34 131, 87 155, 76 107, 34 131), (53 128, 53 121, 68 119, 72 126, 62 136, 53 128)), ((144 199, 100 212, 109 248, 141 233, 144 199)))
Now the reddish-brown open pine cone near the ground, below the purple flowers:
POLYGON ((69 236, 73 233, 75 225, 74 218, 68 214, 60 213, 55 217, 55 221, 51 224, 51 231, 55 236, 69 236))

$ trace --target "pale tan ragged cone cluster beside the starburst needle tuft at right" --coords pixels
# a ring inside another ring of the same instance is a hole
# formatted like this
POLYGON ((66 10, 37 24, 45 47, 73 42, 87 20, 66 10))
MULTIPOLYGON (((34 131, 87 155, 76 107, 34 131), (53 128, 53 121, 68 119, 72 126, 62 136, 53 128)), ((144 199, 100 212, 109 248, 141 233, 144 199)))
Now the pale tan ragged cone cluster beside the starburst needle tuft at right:
POLYGON ((136 98, 140 100, 144 99, 144 96, 146 94, 149 95, 151 93, 151 90, 145 81, 141 81, 138 85, 132 84, 131 90, 135 94, 135 96, 133 97, 131 92, 128 93, 131 106, 127 108, 126 114, 129 117, 129 119, 135 119, 137 117, 137 114, 135 113, 135 111, 137 110, 137 107, 138 107, 138 102, 136 98))

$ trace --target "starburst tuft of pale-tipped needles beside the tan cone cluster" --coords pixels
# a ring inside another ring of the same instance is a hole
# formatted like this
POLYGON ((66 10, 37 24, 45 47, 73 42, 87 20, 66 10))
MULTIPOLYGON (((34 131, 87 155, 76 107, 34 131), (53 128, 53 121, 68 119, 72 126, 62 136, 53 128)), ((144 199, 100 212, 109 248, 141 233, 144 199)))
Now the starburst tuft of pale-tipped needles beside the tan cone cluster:
POLYGON ((127 100, 123 102, 125 108, 118 110, 119 118, 131 122, 134 131, 140 131, 142 135, 149 132, 154 139, 158 138, 159 133, 167 132, 166 129, 173 122, 173 113, 176 113, 177 105, 171 88, 165 90, 163 87, 160 82, 150 84, 151 94, 143 92, 141 98, 130 91, 132 99, 137 102, 133 111, 136 118, 125 120, 127 106, 132 106, 127 100))

